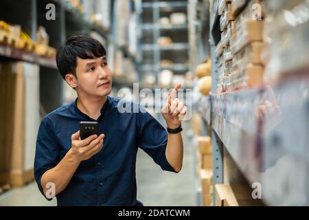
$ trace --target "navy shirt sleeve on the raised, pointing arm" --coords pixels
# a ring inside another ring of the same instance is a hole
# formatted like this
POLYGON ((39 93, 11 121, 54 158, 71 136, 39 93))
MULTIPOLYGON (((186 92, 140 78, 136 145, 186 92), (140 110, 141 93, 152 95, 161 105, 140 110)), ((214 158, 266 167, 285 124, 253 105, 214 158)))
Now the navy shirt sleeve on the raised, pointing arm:
POLYGON ((143 149, 162 170, 178 173, 169 164, 165 156, 168 133, 163 126, 150 115, 139 112, 138 117, 139 148, 143 149))

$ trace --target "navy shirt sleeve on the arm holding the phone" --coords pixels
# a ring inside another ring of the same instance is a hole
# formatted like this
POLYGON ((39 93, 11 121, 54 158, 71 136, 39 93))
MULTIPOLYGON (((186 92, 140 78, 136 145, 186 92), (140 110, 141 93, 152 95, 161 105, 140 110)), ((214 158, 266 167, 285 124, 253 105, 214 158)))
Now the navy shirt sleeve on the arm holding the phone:
MULTIPOLYGON (((38 189, 44 195, 43 188, 41 185, 41 178, 43 174, 54 168, 60 162, 60 151, 59 145, 56 141, 54 131, 52 131, 52 123, 49 122, 48 118, 43 118, 40 127, 38 129, 38 136, 36 138, 36 154, 34 157, 34 178, 38 189)), ((47 200, 52 200, 44 197, 47 200)))

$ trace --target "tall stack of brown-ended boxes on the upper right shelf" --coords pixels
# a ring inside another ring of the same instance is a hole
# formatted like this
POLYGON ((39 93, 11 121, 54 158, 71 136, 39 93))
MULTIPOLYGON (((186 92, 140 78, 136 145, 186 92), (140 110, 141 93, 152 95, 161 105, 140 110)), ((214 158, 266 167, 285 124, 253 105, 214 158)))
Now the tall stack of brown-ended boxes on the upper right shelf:
POLYGON ((260 1, 251 0, 247 5, 242 5, 241 1, 231 1, 231 14, 235 21, 231 22, 230 50, 226 50, 225 61, 232 58, 232 64, 226 69, 228 74, 222 76, 224 91, 262 85, 262 7, 261 11, 253 10, 257 8, 256 3, 260 1), (238 10, 233 10, 233 5, 238 10))

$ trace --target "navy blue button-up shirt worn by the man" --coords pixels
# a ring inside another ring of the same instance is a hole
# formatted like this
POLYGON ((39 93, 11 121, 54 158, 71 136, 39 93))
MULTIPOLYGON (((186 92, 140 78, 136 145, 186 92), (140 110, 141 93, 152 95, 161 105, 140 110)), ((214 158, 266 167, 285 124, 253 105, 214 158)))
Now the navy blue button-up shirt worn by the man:
MULTIPOLYGON (((76 101, 46 115, 39 127, 34 176, 42 193, 43 173, 65 157, 79 122, 95 121, 77 108, 76 101)), ((80 163, 68 186, 56 195, 58 206, 142 206, 137 200, 135 177, 138 148, 148 153, 162 170, 175 172, 165 157, 165 128, 147 112, 120 113, 118 104, 123 103, 107 97, 97 120, 100 133, 105 134, 103 148, 80 163)), ((130 104, 132 109, 140 107, 130 104)))

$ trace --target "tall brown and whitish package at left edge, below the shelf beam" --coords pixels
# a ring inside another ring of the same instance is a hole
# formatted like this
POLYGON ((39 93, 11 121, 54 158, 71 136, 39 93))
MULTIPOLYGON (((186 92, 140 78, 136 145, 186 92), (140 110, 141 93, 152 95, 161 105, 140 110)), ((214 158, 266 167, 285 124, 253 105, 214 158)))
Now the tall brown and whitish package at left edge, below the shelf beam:
POLYGON ((32 181, 36 132, 40 123, 39 67, 25 62, 1 63, 0 184, 32 181))

